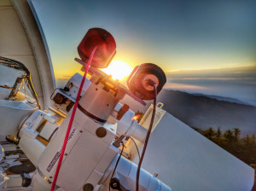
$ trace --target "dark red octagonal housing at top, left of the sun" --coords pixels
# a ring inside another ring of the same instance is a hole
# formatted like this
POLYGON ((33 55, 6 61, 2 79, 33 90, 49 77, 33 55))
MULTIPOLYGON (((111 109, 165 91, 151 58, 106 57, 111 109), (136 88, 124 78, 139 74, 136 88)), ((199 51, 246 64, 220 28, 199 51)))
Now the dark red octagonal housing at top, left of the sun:
POLYGON ((116 43, 113 36, 102 28, 90 28, 79 43, 79 56, 87 63, 92 50, 97 47, 96 53, 90 66, 96 68, 106 68, 116 54, 116 43))

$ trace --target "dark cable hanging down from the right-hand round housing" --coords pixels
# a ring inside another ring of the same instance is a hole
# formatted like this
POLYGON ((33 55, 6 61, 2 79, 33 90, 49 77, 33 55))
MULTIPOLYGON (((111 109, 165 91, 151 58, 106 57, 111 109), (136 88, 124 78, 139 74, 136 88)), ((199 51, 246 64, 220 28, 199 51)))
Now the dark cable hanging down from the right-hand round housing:
POLYGON ((149 136, 150 136, 153 124, 154 124, 154 114, 155 114, 155 109, 156 109, 157 85, 154 82, 153 83, 152 82, 151 82, 151 84, 154 86, 154 108, 153 108, 153 113, 152 113, 151 121, 150 121, 149 128, 148 128, 148 133, 147 133, 147 136, 145 138, 145 143, 144 143, 144 147, 143 147, 143 153, 142 153, 141 159, 139 160, 139 163, 137 165, 136 191, 138 191, 141 166, 142 166, 144 154, 146 152, 146 148, 147 148, 147 145, 148 145, 148 139, 149 139, 149 136))

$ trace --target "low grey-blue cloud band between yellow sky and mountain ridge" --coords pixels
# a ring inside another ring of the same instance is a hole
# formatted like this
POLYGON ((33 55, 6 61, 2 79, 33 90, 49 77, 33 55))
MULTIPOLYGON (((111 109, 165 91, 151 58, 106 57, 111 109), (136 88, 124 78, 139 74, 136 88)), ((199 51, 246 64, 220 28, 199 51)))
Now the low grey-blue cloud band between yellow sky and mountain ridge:
POLYGON ((256 66, 167 72, 165 88, 231 97, 256 105, 256 66))

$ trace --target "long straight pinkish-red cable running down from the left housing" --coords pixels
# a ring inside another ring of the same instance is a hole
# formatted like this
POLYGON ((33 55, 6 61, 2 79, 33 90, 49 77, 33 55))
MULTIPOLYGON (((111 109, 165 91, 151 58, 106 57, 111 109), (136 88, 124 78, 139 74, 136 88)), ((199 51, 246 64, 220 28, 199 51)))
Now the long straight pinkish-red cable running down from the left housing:
POLYGON ((68 126, 67 126, 67 132, 66 132, 66 136, 65 136, 65 139, 64 139, 64 142, 63 142, 62 149, 61 149, 60 159, 59 159, 58 165, 57 165, 57 167, 56 167, 55 178, 54 178, 54 181, 52 182, 50 191, 54 191, 54 190, 55 190, 55 184, 56 184, 57 179, 58 179, 58 175, 59 175, 59 172, 60 172, 60 169, 61 169, 61 162, 62 162, 63 155, 64 155, 64 152, 65 152, 65 149, 66 149, 66 146, 67 146, 67 139, 68 139, 68 136, 69 136, 69 133, 70 133, 72 124, 73 124, 73 119, 74 119, 74 116, 75 116, 75 113, 76 113, 76 110, 77 110, 77 107, 78 107, 78 104, 79 104, 79 98, 80 98, 80 95, 81 95, 81 91, 83 90, 84 80, 85 80, 85 78, 86 78, 87 72, 88 72, 89 67, 90 67, 90 62, 91 62, 91 60, 92 60, 92 58, 93 58, 93 55, 94 55, 95 52, 96 52, 96 49, 97 49, 97 48, 95 47, 95 48, 92 50, 92 52, 91 52, 91 54, 90 54, 89 61, 88 61, 87 65, 86 65, 86 68, 85 68, 84 77, 83 77, 82 82, 81 82, 81 84, 80 84, 79 93, 78 93, 78 96, 77 96, 76 101, 75 101, 75 103, 74 103, 73 112, 72 112, 72 115, 71 115, 69 124, 68 124, 68 126))

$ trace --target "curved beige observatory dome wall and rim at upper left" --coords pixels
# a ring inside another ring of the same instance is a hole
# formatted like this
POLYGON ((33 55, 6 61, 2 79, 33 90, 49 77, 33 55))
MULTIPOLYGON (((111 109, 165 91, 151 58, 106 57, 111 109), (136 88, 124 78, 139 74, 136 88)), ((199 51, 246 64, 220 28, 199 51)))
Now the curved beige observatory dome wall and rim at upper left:
POLYGON ((20 61, 29 69, 39 102, 43 108, 48 108, 49 96, 55 89, 55 76, 44 33, 35 18, 37 15, 32 14, 26 0, 1 0, 0 55, 20 61))

